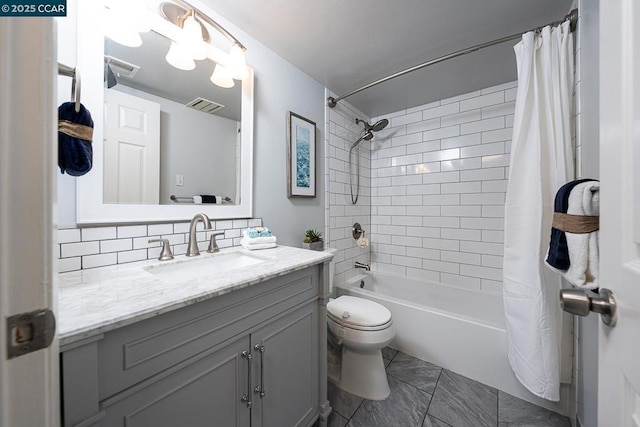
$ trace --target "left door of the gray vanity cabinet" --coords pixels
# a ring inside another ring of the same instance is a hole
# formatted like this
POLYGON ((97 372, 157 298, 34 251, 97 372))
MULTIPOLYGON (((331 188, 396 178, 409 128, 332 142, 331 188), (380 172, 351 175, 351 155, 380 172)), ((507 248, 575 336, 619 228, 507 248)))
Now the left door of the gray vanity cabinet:
POLYGON ((248 427, 251 411, 241 399, 250 362, 242 352, 249 349, 245 335, 103 401, 100 425, 248 427))

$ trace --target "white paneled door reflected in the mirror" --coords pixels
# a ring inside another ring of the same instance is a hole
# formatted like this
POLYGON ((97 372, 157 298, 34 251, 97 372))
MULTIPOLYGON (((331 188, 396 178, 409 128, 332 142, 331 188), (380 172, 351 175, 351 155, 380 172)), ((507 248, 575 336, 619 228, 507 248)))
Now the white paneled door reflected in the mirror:
POLYGON ((104 202, 160 201, 160 104, 105 89, 104 202))

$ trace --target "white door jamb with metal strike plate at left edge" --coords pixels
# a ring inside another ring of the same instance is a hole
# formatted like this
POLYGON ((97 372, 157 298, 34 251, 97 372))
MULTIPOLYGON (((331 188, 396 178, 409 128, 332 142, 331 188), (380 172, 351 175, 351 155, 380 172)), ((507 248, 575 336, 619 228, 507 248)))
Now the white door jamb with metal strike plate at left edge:
POLYGON ((33 317, 20 328, 8 328, 8 318, 55 307, 53 19, 0 18, 0 64, 0 426, 55 427, 57 339, 32 353, 7 353, 7 341, 36 347, 33 317))

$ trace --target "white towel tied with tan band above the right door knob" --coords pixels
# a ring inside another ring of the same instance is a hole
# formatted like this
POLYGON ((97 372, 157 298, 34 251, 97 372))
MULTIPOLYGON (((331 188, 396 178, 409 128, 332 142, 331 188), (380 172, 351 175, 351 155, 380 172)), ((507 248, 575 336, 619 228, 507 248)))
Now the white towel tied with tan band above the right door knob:
MULTIPOLYGON (((569 194, 567 214, 600 216, 600 183, 588 181, 576 185, 569 194)), ((566 271, 550 268, 562 274, 576 287, 598 288, 600 286, 599 231, 584 234, 566 232, 565 235, 571 265, 566 271)))

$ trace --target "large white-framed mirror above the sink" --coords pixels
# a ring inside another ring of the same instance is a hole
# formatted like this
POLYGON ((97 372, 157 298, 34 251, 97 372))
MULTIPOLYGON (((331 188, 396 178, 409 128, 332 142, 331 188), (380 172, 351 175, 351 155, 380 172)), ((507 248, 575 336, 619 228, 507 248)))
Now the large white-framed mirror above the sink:
MULTIPOLYGON (((180 221, 199 212, 212 219, 251 217, 253 70, 246 79, 236 81, 234 88, 218 88, 209 81, 211 61, 196 61, 191 71, 166 64, 169 41, 153 31, 142 34, 143 44, 138 48, 105 41, 101 6, 87 3, 94 2, 78 3, 77 63, 83 76, 82 102, 94 120, 94 163, 76 181, 78 225, 180 221), (116 78, 111 88, 104 84, 105 61, 112 65, 116 78), (127 64, 139 67, 133 78, 125 76, 123 67, 130 68, 127 64), (146 112, 138 114, 142 107, 132 107, 129 116, 119 115, 122 97, 127 102, 141 100, 158 106, 159 123, 153 125, 158 132, 153 138, 158 144, 157 160, 142 158, 140 150, 128 150, 130 144, 113 154, 109 143, 118 140, 114 128, 123 121, 129 127, 150 126, 146 112), (222 107, 211 114, 207 108, 196 111, 186 106, 191 101, 212 101, 209 109, 216 104, 222 107), (155 164, 151 174, 149 164, 155 164), (143 174, 152 182, 145 184, 151 197, 141 195, 138 188, 136 180, 143 174), (199 204, 203 199, 211 202, 208 196, 216 203, 199 204)), ((204 8, 203 12, 210 11, 204 8)))

